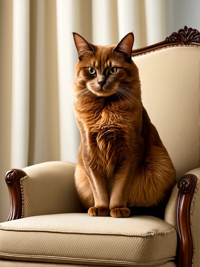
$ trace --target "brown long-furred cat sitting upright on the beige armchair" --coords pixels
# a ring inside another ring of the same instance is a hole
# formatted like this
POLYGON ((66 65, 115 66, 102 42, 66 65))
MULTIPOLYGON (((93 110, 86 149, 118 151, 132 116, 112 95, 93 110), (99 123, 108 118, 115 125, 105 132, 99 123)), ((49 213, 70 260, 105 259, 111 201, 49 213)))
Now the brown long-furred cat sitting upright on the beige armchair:
POLYGON ((163 203, 175 169, 142 104, 133 33, 117 46, 73 38, 73 108, 81 133, 75 184, 83 205, 90 216, 126 218, 130 207, 163 203))

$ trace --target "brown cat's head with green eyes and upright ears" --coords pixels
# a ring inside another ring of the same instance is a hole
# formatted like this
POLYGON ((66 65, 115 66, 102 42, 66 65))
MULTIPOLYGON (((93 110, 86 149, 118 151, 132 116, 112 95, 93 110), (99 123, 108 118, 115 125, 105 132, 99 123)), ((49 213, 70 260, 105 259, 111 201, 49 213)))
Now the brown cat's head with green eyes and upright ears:
POLYGON ((125 94, 128 84, 138 77, 138 69, 131 59, 133 33, 128 33, 117 46, 94 45, 78 33, 73 33, 73 37, 79 59, 76 90, 89 90, 97 96, 125 94))

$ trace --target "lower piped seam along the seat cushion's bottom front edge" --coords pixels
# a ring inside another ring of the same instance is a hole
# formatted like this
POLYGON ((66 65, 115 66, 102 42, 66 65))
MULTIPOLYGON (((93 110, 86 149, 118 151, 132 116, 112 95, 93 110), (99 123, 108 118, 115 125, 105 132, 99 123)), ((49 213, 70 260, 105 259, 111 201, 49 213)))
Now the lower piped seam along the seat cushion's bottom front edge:
POLYGON ((164 263, 167 262, 169 260, 173 260, 175 259, 174 257, 172 258, 168 258, 168 259, 161 259, 158 261, 149 261, 149 262, 134 262, 134 261, 121 261, 121 260, 107 260, 107 259, 84 259, 84 258, 70 258, 70 257, 59 257, 59 256, 49 256, 49 255, 25 255, 25 254, 9 254, 9 253, 0 253, 0 256, 10 256, 10 257, 24 257, 24 258, 43 258, 43 259, 69 259, 69 260, 77 260, 77 261, 95 261, 95 262, 106 262, 106 263, 129 263, 129 264, 154 264, 154 263, 164 263))

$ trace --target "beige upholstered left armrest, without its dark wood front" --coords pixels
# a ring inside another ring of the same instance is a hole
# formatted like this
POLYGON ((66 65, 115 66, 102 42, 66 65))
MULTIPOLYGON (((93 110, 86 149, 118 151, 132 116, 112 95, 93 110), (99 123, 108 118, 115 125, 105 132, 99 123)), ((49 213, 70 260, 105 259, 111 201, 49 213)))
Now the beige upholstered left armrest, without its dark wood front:
POLYGON ((75 164, 43 162, 23 168, 22 216, 79 212, 80 202, 74 183, 75 164))

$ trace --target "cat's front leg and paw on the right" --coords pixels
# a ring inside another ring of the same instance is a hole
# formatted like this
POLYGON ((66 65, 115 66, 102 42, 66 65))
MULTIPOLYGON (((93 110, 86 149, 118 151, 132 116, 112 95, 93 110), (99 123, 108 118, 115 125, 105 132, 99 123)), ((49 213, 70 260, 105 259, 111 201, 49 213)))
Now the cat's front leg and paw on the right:
POLYGON ((130 192, 131 168, 123 165, 115 173, 110 196, 110 215, 115 218, 127 218, 130 210, 127 208, 127 201, 130 192))

